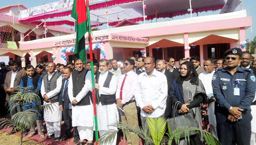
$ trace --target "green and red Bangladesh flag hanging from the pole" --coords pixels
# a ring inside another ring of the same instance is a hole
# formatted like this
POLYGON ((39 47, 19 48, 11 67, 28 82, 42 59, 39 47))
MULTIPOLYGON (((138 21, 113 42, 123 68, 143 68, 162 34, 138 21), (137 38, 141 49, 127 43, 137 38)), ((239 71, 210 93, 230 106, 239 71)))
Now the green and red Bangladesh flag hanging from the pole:
POLYGON ((85 0, 74 0, 71 17, 76 19, 77 38, 74 54, 86 63, 84 35, 88 27, 85 0))

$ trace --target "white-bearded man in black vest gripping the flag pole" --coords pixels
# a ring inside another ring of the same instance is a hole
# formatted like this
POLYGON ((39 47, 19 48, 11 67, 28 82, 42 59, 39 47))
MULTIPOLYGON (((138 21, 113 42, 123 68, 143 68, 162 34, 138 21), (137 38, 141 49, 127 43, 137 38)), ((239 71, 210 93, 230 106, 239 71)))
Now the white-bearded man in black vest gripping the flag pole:
MULTIPOLYGON (((99 73, 95 79, 95 89, 97 89, 98 107, 98 131, 99 136, 108 132, 110 129, 118 130, 117 127, 109 126, 119 121, 118 109, 116 105, 117 77, 108 72, 107 59, 99 60, 99 73)), ((112 143, 107 145, 116 145, 117 134, 112 143)), ((104 144, 106 145, 106 144, 104 144)))

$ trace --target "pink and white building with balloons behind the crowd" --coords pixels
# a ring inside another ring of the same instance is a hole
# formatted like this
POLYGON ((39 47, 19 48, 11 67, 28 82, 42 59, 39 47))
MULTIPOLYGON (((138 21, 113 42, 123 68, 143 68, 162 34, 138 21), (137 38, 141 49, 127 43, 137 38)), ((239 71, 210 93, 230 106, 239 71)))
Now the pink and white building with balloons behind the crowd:
MULTIPOLYGON (((224 4, 225 2, 222 2, 222 7, 224 4)), ((143 18, 145 17, 143 16, 143 18)), ((222 58, 224 52, 233 47, 239 47, 245 51, 246 48, 243 47, 245 44, 245 30, 252 26, 252 17, 247 16, 246 10, 146 24, 137 24, 134 19, 126 20, 124 18, 119 22, 119 19, 116 27, 93 31, 94 47, 95 45, 104 46, 103 49, 98 47, 97 50, 93 50, 96 59, 102 57, 103 50, 107 59, 123 60, 131 55, 150 55, 156 59, 174 57, 178 60, 183 57, 198 55, 202 63, 205 58, 222 58)), ((15 22, 17 25, 23 25, 23 23, 25 21, 15 22)), ((108 24, 110 26, 110 22, 108 24)), ((29 25, 26 27, 29 27, 29 25)), ((47 27, 49 29, 50 26, 47 27)), ((73 53, 69 51, 63 53, 62 50, 65 48, 70 50, 74 47, 75 35, 71 34, 74 32, 69 30, 65 31, 65 35, 58 36, 60 32, 62 34, 63 32, 58 29, 59 26, 54 26, 50 31, 53 37, 41 38, 43 28, 39 28, 41 29, 40 33, 38 32, 39 29, 35 29, 36 32, 33 31, 36 39, 32 40, 32 35, 29 35, 30 39, 27 36, 29 41, 19 42, 18 50, 8 50, 8 52, 20 57, 29 54, 33 58, 31 60, 33 65, 44 60, 63 63, 61 57, 63 54, 68 60, 73 59, 73 53), (52 56, 54 56, 54 60, 52 56), (47 59, 45 59, 46 57, 47 59)), ((22 31, 20 37, 26 36, 27 31, 22 31)), ((89 54, 89 51, 87 53, 89 54)), ((0 54, 6 54, 6 52, 1 51, 0 54)), ((28 58, 25 57, 24 59, 23 66, 28 58)))

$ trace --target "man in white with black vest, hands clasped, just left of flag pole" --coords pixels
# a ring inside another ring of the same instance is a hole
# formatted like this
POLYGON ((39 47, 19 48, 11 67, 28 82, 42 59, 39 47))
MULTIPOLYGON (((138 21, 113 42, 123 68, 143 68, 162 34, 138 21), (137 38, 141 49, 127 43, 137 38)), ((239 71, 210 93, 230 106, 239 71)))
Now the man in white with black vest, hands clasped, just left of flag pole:
MULTIPOLYGON (((93 103, 91 71, 83 67, 81 59, 75 60, 76 70, 72 72, 68 83, 68 97, 72 103, 72 126, 77 127, 79 145, 93 145, 93 103)), ((75 142, 76 140, 74 140, 75 142)))

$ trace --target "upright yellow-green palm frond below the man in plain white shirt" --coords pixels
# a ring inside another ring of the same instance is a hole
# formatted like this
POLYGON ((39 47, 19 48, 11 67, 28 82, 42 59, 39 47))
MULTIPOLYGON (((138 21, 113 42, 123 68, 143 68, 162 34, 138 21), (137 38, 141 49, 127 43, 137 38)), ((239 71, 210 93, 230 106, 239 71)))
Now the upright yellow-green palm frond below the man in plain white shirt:
POLYGON ((147 118, 150 135, 155 145, 160 145, 166 130, 167 119, 165 118, 147 118))

